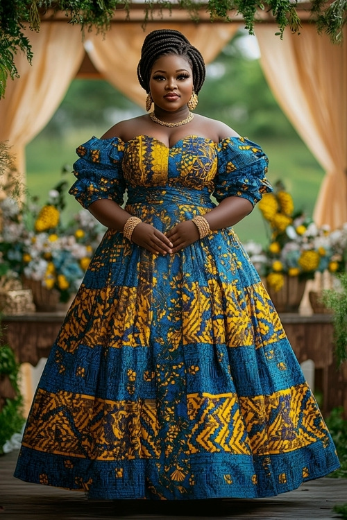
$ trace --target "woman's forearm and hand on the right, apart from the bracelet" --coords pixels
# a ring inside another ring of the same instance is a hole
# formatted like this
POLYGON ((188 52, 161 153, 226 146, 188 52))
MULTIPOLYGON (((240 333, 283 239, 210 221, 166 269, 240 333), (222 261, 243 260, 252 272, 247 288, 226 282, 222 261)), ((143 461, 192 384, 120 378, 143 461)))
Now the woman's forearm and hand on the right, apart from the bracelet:
MULTIPOLYGON (((205 214, 204 218, 208 221, 210 229, 223 229, 237 224, 250 214, 252 209, 252 203, 246 198, 227 197, 205 214)), ((176 253, 199 239, 198 228, 192 220, 185 220, 170 229, 167 237, 174 245, 172 252, 176 253)))

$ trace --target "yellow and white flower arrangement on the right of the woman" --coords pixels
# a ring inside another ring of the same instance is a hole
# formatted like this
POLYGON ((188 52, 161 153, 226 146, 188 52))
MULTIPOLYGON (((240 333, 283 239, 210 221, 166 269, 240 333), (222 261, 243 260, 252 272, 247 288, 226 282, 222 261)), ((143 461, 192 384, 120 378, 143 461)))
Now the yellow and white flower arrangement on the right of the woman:
POLYGON ((316 272, 344 270, 347 225, 336 232, 330 232, 327 225, 316 226, 312 218, 295 211, 281 182, 273 193, 263 196, 258 207, 269 229, 269 244, 258 270, 274 291, 280 291, 285 275, 310 279, 316 272))

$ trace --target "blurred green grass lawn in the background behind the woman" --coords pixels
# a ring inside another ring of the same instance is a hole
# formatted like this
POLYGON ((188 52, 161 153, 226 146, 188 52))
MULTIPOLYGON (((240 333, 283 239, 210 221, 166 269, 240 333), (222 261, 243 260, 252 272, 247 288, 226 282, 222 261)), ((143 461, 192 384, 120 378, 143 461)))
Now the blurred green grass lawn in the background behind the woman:
MULTIPOLYGON (((47 137, 44 132, 38 135, 26 148, 29 192, 38 196, 44 204, 48 191, 62 179, 62 167, 69 165, 69 171, 72 170, 72 164, 77 158, 76 147, 93 134, 100 137, 104 131, 105 129, 83 128, 78 132, 67 131, 59 139, 47 137)), ((249 137, 252 139, 252 136, 249 137)), ((304 209, 307 214, 312 215, 324 173, 303 141, 299 137, 290 141, 257 139, 258 141, 269 156, 269 180, 282 180, 294 197, 296 209, 304 209)), ((73 184, 72 174, 67 174, 66 178, 69 184, 73 184)), ((68 195, 65 218, 69 218, 78 209, 78 203, 68 195)), ((236 225, 235 229, 242 241, 266 241, 265 225, 257 208, 242 223, 236 225)))

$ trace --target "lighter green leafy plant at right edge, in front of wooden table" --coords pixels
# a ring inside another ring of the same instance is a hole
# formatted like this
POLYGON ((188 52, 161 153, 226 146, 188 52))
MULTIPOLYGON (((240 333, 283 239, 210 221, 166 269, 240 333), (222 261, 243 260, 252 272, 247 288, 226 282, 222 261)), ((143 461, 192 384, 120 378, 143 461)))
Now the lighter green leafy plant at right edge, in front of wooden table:
POLYGON ((322 300, 325 306, 333 311, 335 356, 337 364, 341 365, 347 361, 347 272, 337 275, 337 279, 341 287, 325 290, 322 300))

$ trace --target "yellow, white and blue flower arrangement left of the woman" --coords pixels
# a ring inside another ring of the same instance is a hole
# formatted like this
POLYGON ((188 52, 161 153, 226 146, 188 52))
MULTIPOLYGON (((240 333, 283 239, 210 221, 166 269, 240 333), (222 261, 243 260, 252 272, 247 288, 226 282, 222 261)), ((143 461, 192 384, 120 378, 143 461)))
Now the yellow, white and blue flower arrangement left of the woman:
POLYGON ((23 205, 12 196, 0 201, 0 277, 40 281, 58 291, 60 302, 76 293, 104 229, 85 209, 63 223, 67 184, 51 189, 43 207, 33 198, 23 205))

